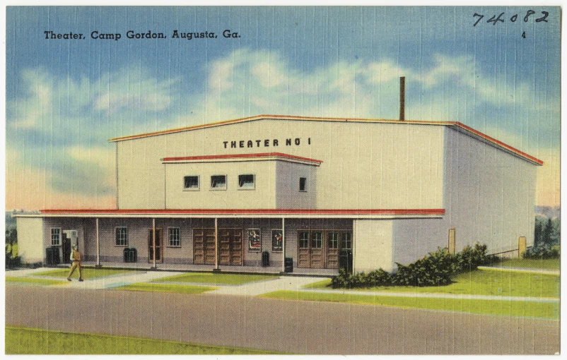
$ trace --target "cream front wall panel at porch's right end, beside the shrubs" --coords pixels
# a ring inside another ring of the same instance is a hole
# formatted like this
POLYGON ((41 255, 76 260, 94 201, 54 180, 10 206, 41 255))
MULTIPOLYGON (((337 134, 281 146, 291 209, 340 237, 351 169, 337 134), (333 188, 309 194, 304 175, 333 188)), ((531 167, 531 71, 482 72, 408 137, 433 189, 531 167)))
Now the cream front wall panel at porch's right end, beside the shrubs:
POLYGON ((392 220, 354 220, 353 272, 392 271, 392 220))

